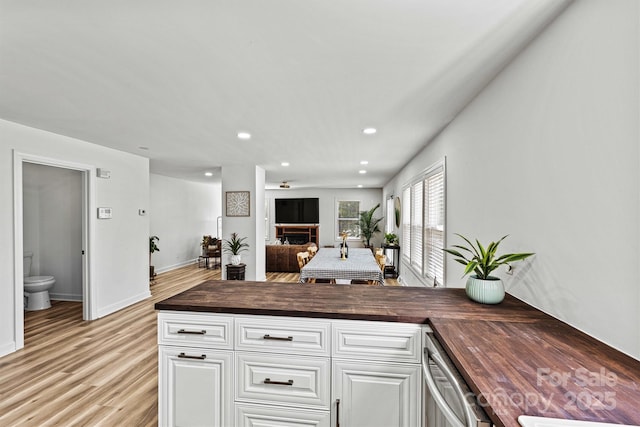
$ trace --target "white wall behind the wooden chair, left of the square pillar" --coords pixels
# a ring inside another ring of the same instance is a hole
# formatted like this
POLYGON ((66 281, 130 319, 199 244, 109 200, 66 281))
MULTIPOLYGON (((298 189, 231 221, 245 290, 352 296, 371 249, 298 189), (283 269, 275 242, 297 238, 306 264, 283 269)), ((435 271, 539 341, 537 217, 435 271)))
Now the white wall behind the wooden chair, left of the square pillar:
POLYGON ((150 186, 149 233, 160 238, 151 260, 156 272, 193 262, 202 252, 202 236, 216 236, 221 184, 151 174, 150 186))

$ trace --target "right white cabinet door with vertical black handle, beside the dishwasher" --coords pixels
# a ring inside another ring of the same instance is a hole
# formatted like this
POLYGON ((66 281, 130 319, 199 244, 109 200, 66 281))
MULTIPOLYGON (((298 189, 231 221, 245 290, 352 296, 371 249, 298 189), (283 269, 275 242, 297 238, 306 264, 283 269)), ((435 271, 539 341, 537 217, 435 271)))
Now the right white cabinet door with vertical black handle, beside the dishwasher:
POLYGON ((420 425, 419 365, 333 361, 332 425, 417 427, 420 425))

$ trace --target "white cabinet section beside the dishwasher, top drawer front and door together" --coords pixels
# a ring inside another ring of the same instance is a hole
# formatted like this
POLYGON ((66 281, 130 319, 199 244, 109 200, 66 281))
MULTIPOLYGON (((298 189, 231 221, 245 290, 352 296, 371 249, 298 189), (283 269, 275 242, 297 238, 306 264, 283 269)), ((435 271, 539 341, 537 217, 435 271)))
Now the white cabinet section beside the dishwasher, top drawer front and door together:
POLYGON ((332 425, 421 425, 422 327, 334 321, 332 425))

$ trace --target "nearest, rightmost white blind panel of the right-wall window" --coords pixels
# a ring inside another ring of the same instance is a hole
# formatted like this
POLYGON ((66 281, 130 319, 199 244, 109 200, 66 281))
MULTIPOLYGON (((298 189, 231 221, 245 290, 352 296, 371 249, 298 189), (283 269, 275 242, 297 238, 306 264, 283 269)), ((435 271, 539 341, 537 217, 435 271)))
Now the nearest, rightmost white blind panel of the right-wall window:
POLYGON ((424 180, 425 275, 442 285, 444 280, 444 167, 427 174, 424 180))

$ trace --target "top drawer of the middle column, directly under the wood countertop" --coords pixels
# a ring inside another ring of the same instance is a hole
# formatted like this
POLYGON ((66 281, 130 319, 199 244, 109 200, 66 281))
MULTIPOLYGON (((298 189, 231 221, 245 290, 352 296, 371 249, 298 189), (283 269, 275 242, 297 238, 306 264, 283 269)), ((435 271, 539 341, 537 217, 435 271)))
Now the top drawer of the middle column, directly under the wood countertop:
POLYGON ((329 356, 331 323, 297 317, 237 317, 236 349, 329 356))

